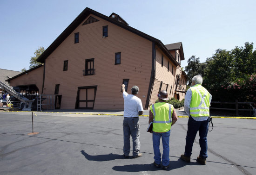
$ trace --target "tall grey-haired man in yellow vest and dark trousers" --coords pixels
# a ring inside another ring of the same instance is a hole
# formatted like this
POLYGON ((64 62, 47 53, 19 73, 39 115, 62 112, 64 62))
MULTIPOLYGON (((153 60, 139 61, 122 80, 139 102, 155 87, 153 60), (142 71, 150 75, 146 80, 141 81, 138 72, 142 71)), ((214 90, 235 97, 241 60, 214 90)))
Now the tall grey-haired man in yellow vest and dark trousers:
POLYGON ((192 87, 187 91, 184 101, 184 111, 189 116, 185 152, 181 155, 181 159, 185 162, 190 162, 193 143, 198 131, 201 151, 196 160, 202 165, 206 163, 206 158, 208 157, 207 133, 211 99, 211 94, 202 87, 202 76, 194 76, 192 78, 192 87))

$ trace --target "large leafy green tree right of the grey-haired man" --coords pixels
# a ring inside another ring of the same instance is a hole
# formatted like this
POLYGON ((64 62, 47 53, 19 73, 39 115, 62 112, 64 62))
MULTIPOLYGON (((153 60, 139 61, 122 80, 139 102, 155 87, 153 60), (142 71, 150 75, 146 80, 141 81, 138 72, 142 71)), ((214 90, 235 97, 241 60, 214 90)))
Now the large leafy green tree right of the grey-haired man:
POLYGON ((235 47, 231 51, 218 49, 207 59, 206 65, 203 86, 213 95, 213 100, 255 100, 256 51, 253 52, 253 43, 247 42, 245 47, 235 47))

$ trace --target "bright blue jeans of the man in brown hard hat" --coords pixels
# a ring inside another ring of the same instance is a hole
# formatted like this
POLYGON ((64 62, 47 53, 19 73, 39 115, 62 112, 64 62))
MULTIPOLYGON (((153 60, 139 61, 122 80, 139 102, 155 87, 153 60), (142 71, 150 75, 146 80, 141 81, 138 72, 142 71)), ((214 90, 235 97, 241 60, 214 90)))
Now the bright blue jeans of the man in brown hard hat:
POLYGON ((162 165, 163 166, 168 166, 169 165, 169 139, 170 139, 170 131, 167 132, 162 132, 162 133, 158 133, 158 132, 154 132, 152 133, 152 140, 153 140, 153 148, 154 148, 154 159, 155 159, 155 163, 160 164, 161 163, 161 153, 160 153, 160 149, 159 149, 159 145, 160 145, 160 138, 162 137, 162 148, 163 148, 163 152, 162 152, 162 165))

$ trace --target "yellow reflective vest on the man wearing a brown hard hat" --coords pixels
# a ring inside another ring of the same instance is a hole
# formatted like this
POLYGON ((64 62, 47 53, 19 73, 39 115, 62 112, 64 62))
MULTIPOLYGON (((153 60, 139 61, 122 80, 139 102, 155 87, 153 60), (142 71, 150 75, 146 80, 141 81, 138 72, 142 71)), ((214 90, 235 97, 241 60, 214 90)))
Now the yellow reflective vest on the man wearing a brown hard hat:
POLYGON ((152 129, 154 132, 167 132, 171 129, 173 110, 174 107, 165 102, 158 102, 150 106, 150 111, 154 115, 152 129))

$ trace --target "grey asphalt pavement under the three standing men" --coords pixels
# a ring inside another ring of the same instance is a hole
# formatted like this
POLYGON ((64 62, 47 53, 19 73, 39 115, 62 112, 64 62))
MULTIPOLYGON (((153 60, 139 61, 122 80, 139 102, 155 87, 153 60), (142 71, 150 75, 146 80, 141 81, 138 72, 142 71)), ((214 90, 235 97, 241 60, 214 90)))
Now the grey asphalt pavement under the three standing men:
MULTIPOLYGON (((123 158, 123 111, 0 112, 0 175, 255 175, 256 119, 213 119, 206 165, 196 162, 197 134, 191 162, 184 153, 188 118, 178 118, 170 136, 170 167, 154 167, 148 117, 140 117, 142 157, 123 158), (92 113, 82 114, 82 113, 92 113), (111 115, 97 115, 108 113, 111 115)), ((178 115, 184 114, 177 111, 178 115)), ((143 115, 148 115, 145 111, 143 115)), ((132 143, 132 142, 131 142, 132 143)), ((162 144, 160 145, 160 148, 162 144)), ((162 148, 161 148, 162 152, 162 148)))

